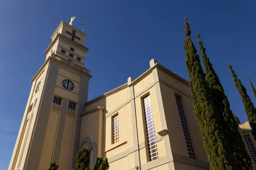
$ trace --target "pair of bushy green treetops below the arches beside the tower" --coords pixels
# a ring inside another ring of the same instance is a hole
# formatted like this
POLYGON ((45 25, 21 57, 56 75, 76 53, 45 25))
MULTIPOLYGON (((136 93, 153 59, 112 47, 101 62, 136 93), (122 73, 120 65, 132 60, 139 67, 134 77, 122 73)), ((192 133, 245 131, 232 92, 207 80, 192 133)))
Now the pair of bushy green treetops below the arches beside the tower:
MULTIPOLYGON (((93 170, 108 170, 108 158, 97 158, 93 170)), ((74 169, 73 169, 74 170, 74 169)), ((90 169, 90 150, 82 148, 76 154, 76 169, 75 170, 91 170, 90 169)))

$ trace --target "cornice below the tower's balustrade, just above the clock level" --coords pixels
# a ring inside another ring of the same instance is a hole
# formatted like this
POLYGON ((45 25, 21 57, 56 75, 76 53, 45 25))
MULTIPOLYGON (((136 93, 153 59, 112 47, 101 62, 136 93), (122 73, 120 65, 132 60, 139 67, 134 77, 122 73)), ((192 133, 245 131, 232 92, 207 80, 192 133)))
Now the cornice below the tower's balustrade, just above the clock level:
POLYGON ((81 72, 81 71, 78 71, 76 70, 75 68, 69 66, 69 65, 65 65, 64 63, 58 61, 57 59, 54 59, 52 57, 48 57, 47 60, 43 63, 43 65, 41 66, 41 68, 39 68, 38 72, 35 74, 35 76, 31 79, 31 82, 33 82, 35 80, 35 78, 38 76, 38 74, 44 69, 44 67, 48 64, 48 62, 55 62, 55 63, 58 63, 59 65, 61 65, 62 67, 64 68, 67 68, 67 69, 70 69, 71 71, 74 71, 76 72, 77 74, 80 74, 80 75, 83 75, 85 77, 88 77, 89 79, 91 77, 93 77, 92 75, 90 74, 87 74, 87 73, 84 73, 84 72, 81 72))

